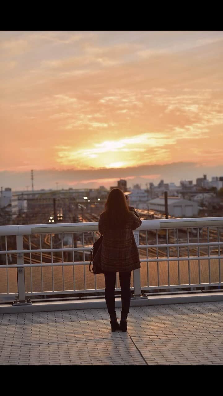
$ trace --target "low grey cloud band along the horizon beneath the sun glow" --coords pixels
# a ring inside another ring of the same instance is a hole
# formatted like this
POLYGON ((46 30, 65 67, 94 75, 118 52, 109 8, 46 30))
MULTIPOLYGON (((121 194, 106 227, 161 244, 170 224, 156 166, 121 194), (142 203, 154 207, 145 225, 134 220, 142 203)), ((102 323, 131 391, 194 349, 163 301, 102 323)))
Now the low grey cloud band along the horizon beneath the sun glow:
MULTIPOLYGON (((127 179, 128 185, 131 183, 153 182, 157 184, 160 179, 166 183, 174 182, 179 185, 181 179, 193 179, 207 174, 211 179, 213 175, 222 175, 222 167, 207 167, 196 162, 175 162, 172 164, 129 167, 126 169, 34 169, 34 187, 56 189, 56 182, 59 188, 97 188, 100 185, 110 187, 116 185, 120 178, 127 179)), ((1 183, 5 187, 12 187, 13 190, 24 189, 26 185, 31 186, 30 171, 0 171, 1 183)))

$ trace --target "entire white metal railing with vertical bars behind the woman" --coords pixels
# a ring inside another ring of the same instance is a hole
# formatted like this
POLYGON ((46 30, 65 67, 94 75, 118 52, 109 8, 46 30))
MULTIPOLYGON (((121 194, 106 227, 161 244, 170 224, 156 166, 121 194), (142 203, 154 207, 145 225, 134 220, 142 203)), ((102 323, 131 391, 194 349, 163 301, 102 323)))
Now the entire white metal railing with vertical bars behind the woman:
MULTIPOLYGON (((223 217, 143 220, 132 290, 223 286, 223 217)), ((0 300, 104 291, 88 271, 98 223, 0 227, 0 300)), ((119 291, 118 280, 116 291, 119 291)))

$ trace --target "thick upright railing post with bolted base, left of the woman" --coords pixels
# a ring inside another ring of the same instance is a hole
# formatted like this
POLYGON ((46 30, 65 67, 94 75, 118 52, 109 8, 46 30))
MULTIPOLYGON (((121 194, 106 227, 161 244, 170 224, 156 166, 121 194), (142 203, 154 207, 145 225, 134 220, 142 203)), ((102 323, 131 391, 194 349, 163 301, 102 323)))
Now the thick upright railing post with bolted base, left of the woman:
MULTIPOLYGON (((16 236, 16 250, 23 250, 23 235, 16 236)), ((23 253, 17 253, 17 265, 24 264, 23 253)), ((31 301, 28 299, 25 301, 25 268, 17 268, 17 284, 18 284, 18 301, 15 300, 12 304, 16 305, 31 305, 31 301)))

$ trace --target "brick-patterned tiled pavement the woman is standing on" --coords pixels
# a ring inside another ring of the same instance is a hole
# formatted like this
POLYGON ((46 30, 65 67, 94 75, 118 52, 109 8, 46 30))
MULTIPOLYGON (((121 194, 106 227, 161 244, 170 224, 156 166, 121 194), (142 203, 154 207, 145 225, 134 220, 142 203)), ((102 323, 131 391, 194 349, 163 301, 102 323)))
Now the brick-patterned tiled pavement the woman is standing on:
POLYGON ((223 303, 0 315, 0 365, 223 365, 223 303), (116 310, 120 317, 120 309, 116 310))

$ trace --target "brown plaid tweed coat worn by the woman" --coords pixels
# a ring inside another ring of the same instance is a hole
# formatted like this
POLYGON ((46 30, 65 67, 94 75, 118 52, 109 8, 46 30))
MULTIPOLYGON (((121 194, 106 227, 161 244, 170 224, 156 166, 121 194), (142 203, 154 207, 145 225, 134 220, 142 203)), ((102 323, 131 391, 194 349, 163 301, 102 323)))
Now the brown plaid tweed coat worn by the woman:
POLYGON ((100 267, 108 272, 128 272, 140 268, 138 248, 133 230, 142 224, 133 206, 129 207, 129 219, 120 229, 110 229, 105 212, 100 215, 98 230, 104 236, 100 267))

